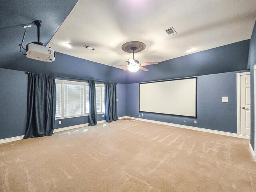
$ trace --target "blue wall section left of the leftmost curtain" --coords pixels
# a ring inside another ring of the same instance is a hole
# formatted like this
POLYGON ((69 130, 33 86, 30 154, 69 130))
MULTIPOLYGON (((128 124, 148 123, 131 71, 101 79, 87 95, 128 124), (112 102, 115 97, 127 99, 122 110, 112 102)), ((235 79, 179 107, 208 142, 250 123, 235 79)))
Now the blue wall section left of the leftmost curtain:
POLYGON ((0 68, 0 139, 25 134, 28 77, 0 68))

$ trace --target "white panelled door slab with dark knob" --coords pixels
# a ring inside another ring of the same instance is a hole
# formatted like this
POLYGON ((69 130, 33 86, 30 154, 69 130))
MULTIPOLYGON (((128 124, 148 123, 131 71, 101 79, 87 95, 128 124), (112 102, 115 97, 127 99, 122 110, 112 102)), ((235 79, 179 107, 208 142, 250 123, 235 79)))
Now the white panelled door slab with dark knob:
POLYGON ((250 75, 240 76, 240 114, 241 134, 250 135, 251 132, 251 93, 250 75))

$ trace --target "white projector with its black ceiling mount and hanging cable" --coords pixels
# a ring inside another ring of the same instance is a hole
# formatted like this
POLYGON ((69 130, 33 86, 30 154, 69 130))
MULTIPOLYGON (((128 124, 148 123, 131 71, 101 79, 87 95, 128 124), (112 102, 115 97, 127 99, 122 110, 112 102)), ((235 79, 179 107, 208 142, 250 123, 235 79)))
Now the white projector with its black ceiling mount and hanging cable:
MULTIPOLYGON (((44 62, 52 62, 55 60, 55 52, 54 50, 52 50, 52 48, 50 47, 45 47, 43 43, 41 43, 41 39, 40 39, 40 27, 41 27, 41 20, 36 20, 34 22, 32 22, 32 24, 37 26, 37 42, 32 42, 29 43, 26 46, 26 57, 30 58, 30 59, 35 59, 35 60, 39 60, 39 61, 44 61, 44 62)), ((27 29, 27 26, 26 26, 27 29)), ((25 37, 26 31, 24 32, 24 36, 22 39, 22 43, 20 44, 20 52, 21 52, 21 48, 23 48, 22 44, 24 41, 24 37, 25 37)))

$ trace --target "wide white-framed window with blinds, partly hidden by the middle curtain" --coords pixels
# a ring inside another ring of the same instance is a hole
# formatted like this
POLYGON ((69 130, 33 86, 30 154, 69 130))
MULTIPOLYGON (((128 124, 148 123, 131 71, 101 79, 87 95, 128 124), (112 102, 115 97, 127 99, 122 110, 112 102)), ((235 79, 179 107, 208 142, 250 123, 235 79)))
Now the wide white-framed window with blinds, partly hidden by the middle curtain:
MULTIPOLYGON (((95 84, 97 113, 104 113, 104 84, 95 84)), ((56 118, 85 116, 89 113, 89 86, 86 82, 56 80, 56 118)))

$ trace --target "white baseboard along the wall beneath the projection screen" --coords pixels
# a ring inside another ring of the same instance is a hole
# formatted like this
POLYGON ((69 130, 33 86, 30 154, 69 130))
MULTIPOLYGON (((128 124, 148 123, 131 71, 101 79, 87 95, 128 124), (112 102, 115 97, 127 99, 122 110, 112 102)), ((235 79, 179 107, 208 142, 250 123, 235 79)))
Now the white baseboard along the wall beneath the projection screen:
MULTIPOLYGON (((127 118, 130 118, 130 117, 127 116, 127 118)), ((134 117, 132 117, 132 118, 134 118, 134 117)), ((154 120, 149 120, 149 119, 142 119, 142 118, 138 118, 138 119, 141 121, 146 121, 146 122, 151 122, 151 123, 157 123, 157 124, 162 124, 162 125, 185 128, 185 129, 192 129, 192 130, 196 130, 196 131, 202 131, 202 132, 208 132, 208 133, 213 133, 213 134, 226 135, 226 136, 238 137, 238 138, 250 140, 250 136, 248 136, 248 135, 240 135, 240 134, 236 134, 236 133, 229 133, 229 132, 224 132, 224 131, 198 128, 198 127, 192 127, 192 126, 180 125, 180 124, 174 124, 174 123, 167 123, 167 122, 162 122, 162 121, 154 121, 154 120)))

